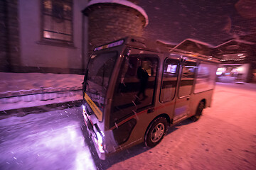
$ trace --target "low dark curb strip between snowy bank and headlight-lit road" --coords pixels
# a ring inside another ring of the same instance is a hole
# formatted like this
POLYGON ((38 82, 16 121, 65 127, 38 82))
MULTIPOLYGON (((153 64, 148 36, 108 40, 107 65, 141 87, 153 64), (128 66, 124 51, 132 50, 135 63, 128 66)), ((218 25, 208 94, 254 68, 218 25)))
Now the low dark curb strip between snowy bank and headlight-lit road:
POLYGON ((82 100, 78 101, 68 101, 64 103, 52 103, 44 106, 33 106, 27 108, 17 108, 6 111, 0 111, 0 120, 5 118, 10 118, 12 116, 22 117, 31 113, 43 113, 48 111, 63 110, 65 108, 72 108, 74 106, 81 106, 82 100))

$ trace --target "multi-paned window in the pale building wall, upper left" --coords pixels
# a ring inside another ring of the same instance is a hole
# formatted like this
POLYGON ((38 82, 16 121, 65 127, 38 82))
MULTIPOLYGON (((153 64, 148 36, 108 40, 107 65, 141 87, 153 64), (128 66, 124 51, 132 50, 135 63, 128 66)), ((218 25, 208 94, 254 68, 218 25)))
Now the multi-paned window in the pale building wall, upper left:
POLYGON ((73 0, 42 0, 42 37, 73 45, 73 0))

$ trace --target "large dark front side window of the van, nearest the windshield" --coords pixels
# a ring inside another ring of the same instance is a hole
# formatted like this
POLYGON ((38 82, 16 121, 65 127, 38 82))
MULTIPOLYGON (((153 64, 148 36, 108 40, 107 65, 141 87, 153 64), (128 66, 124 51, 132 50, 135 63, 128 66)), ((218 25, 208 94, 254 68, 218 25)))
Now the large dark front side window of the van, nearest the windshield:
POLYGON ((110 126, 153 104, 158 59, 151 56, 124 59, 114 88, 110 126))

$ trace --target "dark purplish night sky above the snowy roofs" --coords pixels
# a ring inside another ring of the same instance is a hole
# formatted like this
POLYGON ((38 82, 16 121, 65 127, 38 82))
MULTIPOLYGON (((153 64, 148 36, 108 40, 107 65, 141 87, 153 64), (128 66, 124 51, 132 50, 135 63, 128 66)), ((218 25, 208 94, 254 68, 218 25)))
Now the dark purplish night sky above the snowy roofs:
POLYGON ((256 0, 143 0, 149 16, 144 35, 181 42, 194 38, 211 45, 255 31, 256 0))

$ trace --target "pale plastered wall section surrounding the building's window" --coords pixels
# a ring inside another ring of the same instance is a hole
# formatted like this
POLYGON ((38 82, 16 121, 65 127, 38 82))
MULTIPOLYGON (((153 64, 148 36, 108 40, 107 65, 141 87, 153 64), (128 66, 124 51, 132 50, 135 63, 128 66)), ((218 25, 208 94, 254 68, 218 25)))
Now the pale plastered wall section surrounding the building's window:
POLYGON ((73 47, 41 42, 41 0, 18 0, 21 67, 20 72, 82 73, 87 45, 87 21, 82 30, 82 9, 87 1, 73 0, 73 47), (85 31, 85 34, 82 34, 85 31), (84 35, 84 36, 82 36, 84 35))

